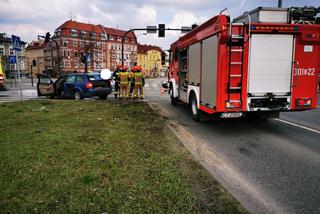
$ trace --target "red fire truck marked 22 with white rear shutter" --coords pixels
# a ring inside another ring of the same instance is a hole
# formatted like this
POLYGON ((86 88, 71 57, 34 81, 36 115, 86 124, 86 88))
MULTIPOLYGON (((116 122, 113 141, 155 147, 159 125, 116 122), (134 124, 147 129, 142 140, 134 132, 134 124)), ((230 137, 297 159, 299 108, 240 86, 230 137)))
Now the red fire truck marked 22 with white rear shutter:
POLYGON ((257 8, 218 15, 171 45, 171 103, 201 120, 314 109, 320 64, 316 8, 257 8), (311 12, 310 12, 311 11, 311 12))

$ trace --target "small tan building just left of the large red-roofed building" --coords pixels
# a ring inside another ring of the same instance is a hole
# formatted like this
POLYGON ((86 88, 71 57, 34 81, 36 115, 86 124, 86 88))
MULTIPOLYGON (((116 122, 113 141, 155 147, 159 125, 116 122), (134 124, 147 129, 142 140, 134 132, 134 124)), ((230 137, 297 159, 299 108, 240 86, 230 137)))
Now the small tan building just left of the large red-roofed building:
POLYGON ((44 66, 44 40, 32 41, 25 50, 27 71, 36 76, 43 73, 44 66))

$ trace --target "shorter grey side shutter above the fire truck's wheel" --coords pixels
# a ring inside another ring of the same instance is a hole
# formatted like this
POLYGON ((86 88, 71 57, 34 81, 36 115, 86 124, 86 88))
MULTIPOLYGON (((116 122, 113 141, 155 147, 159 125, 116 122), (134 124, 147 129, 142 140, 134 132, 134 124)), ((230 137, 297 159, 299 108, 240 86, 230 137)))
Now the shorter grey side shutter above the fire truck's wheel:
POLYGON ((200 83, 201 44, 198 42, 189 47, 189 84, 200 83))

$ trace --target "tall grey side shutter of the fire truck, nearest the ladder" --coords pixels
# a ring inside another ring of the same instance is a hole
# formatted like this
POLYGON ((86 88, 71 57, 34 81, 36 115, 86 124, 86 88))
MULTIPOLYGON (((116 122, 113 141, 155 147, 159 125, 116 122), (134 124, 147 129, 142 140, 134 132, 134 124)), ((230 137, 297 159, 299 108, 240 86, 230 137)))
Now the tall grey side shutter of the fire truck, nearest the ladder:
POLYGON ((202 42, 201 103, 210 108, 216 106, 217 98, 218 37, 212 36, 202 42))

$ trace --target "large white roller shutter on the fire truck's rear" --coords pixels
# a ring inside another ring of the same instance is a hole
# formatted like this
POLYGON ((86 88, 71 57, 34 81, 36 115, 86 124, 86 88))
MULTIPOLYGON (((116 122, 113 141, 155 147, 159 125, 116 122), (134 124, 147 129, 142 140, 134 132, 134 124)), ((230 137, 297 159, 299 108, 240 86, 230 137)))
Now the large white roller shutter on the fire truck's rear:
POLYGON ((284 96, 291 92, 293 35, 253 34, 248 93, 284 96))

